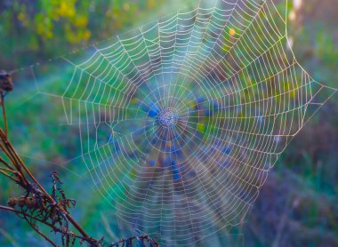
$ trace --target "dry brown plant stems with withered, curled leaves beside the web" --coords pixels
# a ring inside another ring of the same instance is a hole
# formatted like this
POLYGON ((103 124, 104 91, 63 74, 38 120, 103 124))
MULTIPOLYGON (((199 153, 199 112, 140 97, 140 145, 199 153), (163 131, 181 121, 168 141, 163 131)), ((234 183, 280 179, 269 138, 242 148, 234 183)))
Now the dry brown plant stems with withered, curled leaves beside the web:
POLYGON ((12 78, 4 71, 0 71, 0 97, 1 108, 3 111, 4 130, 0 128, 0 174, 7 179, 15 182, 24 190, 24 195, 16 198, 10 198, 8 206, 0 205, 0 210, 11 211, 21 219, 25 219, 28 225, 36 231, 38 235, 51 243, 52 246, 58 246, 49 236, 45 235, 39 225, 49 227, 53 233, 60 235, 62 246, 73 246, 76 241, 87 243, 89 246, 133 246, 133 241, 140 246, 157 247, 156 241, 149 235, 133 236, 128 239, 121 239, 117 243, 105 243, 103 237, 100 240, 94 239, 88 235, 69 213, 69 209, 76 206, 76 201, 68 199, 61 188, 62 181, 57 172, 51 173, 52 193, 37 181, 34 175, 28 170, 26 164, 20 159, 20 156, 12 147, 8 139, 7 119, 4 108, 4 97, 7 92, 13 89, 12 78), (71 230, 76 229, 76 233, 71 230))

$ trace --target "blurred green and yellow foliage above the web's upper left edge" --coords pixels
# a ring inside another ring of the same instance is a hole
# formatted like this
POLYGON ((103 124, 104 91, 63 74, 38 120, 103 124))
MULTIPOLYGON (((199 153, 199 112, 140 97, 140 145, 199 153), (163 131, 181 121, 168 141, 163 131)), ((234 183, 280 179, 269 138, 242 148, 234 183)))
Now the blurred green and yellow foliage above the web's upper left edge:
POLYGON ((1 1, 0 64, 3 68, 18 68, 93 44, 135 22, 149 20, 149 12, 158 12, 164 3, 165 0, 1 1))

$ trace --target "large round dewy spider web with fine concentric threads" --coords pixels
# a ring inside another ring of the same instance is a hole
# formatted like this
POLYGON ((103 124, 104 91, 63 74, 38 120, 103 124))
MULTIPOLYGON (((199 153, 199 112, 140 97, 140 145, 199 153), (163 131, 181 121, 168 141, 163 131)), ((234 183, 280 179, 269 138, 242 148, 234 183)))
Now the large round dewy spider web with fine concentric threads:
POLYGON ((278 156, 335 92, 295 60, 270 0, 201 1, 29 73, 31 99, 62 106, 48 128, 78 138, 64 163, 93 178, 119 227, 165 246, 243 225, 278 156))

